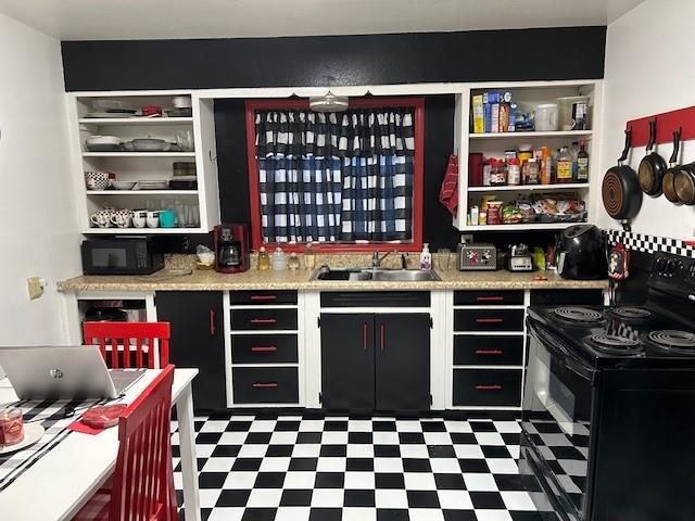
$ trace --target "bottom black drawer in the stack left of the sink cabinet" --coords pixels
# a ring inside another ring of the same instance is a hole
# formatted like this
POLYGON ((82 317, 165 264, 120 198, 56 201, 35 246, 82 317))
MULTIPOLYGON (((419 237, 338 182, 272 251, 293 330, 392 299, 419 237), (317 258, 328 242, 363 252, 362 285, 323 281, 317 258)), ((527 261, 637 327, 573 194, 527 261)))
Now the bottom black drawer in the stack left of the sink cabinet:
POLYGON ((235 404, 295 404, 300 399, 295 367, 236 367, 235 404))

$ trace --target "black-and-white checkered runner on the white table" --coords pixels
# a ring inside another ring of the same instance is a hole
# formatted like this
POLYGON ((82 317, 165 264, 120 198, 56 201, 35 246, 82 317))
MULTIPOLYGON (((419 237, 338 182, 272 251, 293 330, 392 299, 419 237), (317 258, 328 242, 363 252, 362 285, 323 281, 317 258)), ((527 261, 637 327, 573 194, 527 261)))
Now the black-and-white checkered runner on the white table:
POLYGON ((10 486, 14 480, 70 435, 72 431, 65 428, 75 421, 79 415, 65 418, 65 409, 67 407, 73 407, 79 412, 94 404, 94 401, 43 401, 14 404, 15 407, 22 409, 25 422, 40 422, 46 429, 46 433, 39 442, 29 447, 0 455, 0 492, 10 486))

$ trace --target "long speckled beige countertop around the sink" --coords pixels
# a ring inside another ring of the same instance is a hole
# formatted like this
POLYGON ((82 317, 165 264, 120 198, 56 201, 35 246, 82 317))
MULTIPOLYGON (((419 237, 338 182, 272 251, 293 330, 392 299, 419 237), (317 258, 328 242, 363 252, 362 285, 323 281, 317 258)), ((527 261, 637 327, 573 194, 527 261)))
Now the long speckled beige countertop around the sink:
POLYGON ((172 275, 166 269, 148 276, 80 276, 58 283, 59 291, 225 291, 225 290, 554 290, 606 289, 608 280, 566 280, 553 271, 511 274, 508 271, 458 271, 437 274, 441 281, 428 282, 351 282, 309 281, 311 271, 258 271, 225 275, 193 269, 191 275, 172 275), (547 280, 535 280, 545 276, 547 280))

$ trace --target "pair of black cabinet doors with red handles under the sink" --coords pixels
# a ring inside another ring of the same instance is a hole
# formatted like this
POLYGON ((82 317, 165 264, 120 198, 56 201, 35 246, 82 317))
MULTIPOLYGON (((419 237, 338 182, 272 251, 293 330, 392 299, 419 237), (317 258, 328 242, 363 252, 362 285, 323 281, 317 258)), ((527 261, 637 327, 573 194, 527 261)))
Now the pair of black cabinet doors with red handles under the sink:
POLYGON ((430 408, 429 314, 323 314, 326 409, 430 408))

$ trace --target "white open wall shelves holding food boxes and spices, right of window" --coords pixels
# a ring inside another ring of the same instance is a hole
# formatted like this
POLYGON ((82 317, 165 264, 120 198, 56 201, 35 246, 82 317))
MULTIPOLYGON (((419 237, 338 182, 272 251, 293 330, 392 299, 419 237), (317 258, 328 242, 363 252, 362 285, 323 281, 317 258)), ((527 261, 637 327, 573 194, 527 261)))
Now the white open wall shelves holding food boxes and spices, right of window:
POLYGON ((458 214, 454 218, 454 226, 467 232, 475 231, 510 231, 510 230, 559 230, 572 226, 574 223, 529 223, 518 225, 467 225, 467 214, 470 206, 479 204, 486 193, 498 194, 502 201, 511 201, 517 194, 539 194, 543 192, 576 192, 586 203, 587 219, 595 215, 595 199, 592 189, 596 186, 601 173, 598 171, 601 154, 598 149, 602 127, 602 80, 563 80, 563 81, 514 81, 514 82, 481 82, 465 84, 456 94, 456 114, 454 122, 454 150, 459 156, 458 168, 458 214), (569 131, 519 131, 496 134, 472 134, 470 131, 471 97, 485 91, 510 91, 513 100, 518 105, 518 112, 532 112, 541 103, 554 102, 556 98, 566 96, 589 97, 587 130, 569 131), (590 182, 572 182, 557 185, 521 185, 504 187, 469 187, 468 186, 468 154, 482 153, 484 157, 504 157, 507 149, 519 144, 530 143, 534 149, 542 145, 557 149, 572 141, 586 141, 590 155, 590 182))

